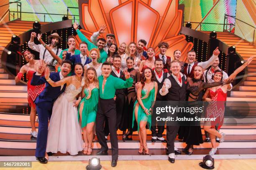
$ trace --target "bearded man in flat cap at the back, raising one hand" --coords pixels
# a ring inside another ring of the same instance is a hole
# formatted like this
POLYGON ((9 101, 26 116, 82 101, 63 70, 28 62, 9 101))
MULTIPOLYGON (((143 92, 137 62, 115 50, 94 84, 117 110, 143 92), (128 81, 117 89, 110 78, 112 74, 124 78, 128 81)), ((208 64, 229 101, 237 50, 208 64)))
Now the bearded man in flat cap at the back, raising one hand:
MULTIPOLYGON (((96 45, 97 44, 97 38, 100 34, 105 33, 105 29, 107 28, 106 25, 101 25, 100 29, 97 32, 94 32, 91 36, 92 42, 96 45)), ((105 47, 103 48, 105 52, 108 54, 108 48, 111 44, 115 44, 115 35, 114 34, 107 34, 107 43, 105 44, 105 47)))

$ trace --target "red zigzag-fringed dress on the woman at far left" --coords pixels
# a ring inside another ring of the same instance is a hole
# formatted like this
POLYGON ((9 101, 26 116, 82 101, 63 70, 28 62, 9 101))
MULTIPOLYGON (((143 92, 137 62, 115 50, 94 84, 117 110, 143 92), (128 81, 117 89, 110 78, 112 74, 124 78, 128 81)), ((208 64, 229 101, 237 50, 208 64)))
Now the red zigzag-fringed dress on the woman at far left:
POLYGON ((44 90, 45 84, 33 86, 30 84, 33 78, 34 71, 28 70, 27 72, 27 79, 28 79, 28 105, 30 107, 36 107, 34 101, 36 97, 44 90))

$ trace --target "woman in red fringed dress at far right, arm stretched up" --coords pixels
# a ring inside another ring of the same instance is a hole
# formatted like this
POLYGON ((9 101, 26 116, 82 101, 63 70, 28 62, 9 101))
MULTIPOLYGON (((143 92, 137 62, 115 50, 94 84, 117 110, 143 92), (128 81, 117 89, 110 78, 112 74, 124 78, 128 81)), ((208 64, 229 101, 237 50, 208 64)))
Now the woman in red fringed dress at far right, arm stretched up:
MULTIPOLYGON (((238 67, 230 76, 229 79, 234 79, 236 75, 241 72, 245 67, 247 67, 253 57, 250 57, 247 62, 238 67)), ((215 70, 212 79, 215 82, 223 81, 223 71, 215 70)), ((203 128, 210 134, 210 139, 212 143, 212 150, 210 150, 209 155, 214 155, 217 151, 216 136, 220 138, 220 143, 224 141, 225 133, 219 133, 215 130, 215 126, 218 125, 218 130, 223 124, 224 112, 225 112, 225 101, 227 100, 227 90, 230 89, 230 84, 225 84, 222 86, 210 87, 206 90, 203 100, 209 102, 207 106, 206 115, 207 118, 216 118, 215 121, 205 122, 203 128)))

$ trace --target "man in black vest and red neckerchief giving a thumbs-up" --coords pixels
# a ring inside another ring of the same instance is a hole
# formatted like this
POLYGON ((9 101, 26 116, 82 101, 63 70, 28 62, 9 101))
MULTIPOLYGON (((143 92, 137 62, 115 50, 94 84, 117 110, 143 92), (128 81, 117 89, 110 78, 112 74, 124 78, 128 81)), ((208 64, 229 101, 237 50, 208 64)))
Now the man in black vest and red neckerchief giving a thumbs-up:
MULTIPOLYGON (((164 85, 159 93, 166 97, 167 101, 186 100, 186 76, 180 72, 181 65, 178 60, 171 62, 172 75, 164 80, 164 85)), ((169 162, 175 162, 174 141, 178 133, 179 126, 166 126, 167 148, 169 151, 169 162)))

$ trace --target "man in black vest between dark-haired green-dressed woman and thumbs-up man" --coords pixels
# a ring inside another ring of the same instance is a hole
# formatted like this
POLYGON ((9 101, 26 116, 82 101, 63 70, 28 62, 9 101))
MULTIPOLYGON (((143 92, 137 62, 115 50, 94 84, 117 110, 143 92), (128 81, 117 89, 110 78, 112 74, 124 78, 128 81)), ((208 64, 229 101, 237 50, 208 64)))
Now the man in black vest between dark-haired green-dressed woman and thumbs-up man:
MULTIPOLYGON (((162 86, 164 85, 164 80, 168 77, 168 73, 163 71, 163 60, 161 60, 160 58, 155 60, 155 81, 158 84, 158 88, 161 89, 162 86)), ((165 96, 160 95, 159 91, 156 94, 156 101, 164 101, 165 100, 165 96)), ((156 119, 152 118, 152 121, 156 121, 156 119)), ((152 122, 152 126, 151 126, 151 133, 152 133, 152 142, 156 142, 156 140, 160 140, 161 142, 166 143, 166 140, 163 138, 163 132, 164 132, 164 126, 159 126, 157 125, 157 132, 156 132, 156 123, 152 122)))

